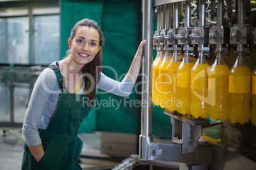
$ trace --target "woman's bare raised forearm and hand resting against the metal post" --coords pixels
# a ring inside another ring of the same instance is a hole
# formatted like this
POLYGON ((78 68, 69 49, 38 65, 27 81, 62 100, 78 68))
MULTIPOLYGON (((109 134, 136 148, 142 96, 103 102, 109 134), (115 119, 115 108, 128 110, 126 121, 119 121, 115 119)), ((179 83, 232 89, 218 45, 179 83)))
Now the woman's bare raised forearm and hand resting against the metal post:
POLYGON ((146 40, 141 41, 141 43, 139 44, 139 48, 136 52, 136 55, 132 60, 131 67, 126 74, 126 77, 132 82, 136 82, 136 79, 139 74, 139 70, 141 69, 142 49, 145 44, 146 44, 146 40))

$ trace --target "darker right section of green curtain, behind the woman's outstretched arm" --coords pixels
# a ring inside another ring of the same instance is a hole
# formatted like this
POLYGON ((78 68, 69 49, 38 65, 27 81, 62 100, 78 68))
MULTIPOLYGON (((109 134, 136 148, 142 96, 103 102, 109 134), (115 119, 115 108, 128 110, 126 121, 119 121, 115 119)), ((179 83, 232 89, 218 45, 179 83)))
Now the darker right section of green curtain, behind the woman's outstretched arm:
MULTIPOLYGON (((136 1, 105 1, 103 32, 106 38, 103 47, 103 65, 107 66, 103 68, 103 73, 117 81, 122 81, 137 49, 136 1)), ((130 102, 136 98, 134 89, 127 98, 110 93, 97 95, 98 101, 110 99, 113 101, 109 101, 105 107, 102 106, 97 110, 97 130, 136 133, 137 108, 133 103, 130 107, 130 102), (120 107, 115 104, 116 102, 120 107)))

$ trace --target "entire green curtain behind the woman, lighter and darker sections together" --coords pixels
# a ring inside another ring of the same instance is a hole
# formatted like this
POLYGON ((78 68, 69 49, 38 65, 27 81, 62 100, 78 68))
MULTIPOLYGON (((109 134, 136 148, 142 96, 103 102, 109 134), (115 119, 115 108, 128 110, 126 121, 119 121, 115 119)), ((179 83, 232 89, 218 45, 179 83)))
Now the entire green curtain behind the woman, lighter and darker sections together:
MULTIPOLYGON (((141 40, 141 37, 138 37, 137 4, 136 0, 62 0, 60 4, 62 58, 69 49, 68 38, 73 25, 83 18, 96 20, 106 39, 103 45, 103 73, 112 79, 122 81, 137 51, 138 39, 141 40)), ((139 107, 137 85, 135 84, 129 97, 112 95, 98 89, 95 109, 82 122, 80 132, 108 131, 136 134, 139 107)), ((153 107, 153 134, 170 136, 169 120, 161 108, 153 107)))

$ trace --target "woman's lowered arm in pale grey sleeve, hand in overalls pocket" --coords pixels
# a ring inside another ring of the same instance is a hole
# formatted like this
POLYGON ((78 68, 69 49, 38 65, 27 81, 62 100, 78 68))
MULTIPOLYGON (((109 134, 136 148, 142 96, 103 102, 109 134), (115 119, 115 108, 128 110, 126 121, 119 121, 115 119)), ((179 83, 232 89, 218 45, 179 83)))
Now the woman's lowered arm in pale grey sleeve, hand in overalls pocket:
POLYGON ((41 138, 39 137, 38 132, 39 122, 43 116, 51 94, 55 91, 55 86, 58 85, 53 70, 43 70, 34 84, 29 106, 25 114, 22 131, 27 146, 37 161, 39 161, 44 154, 41 138))

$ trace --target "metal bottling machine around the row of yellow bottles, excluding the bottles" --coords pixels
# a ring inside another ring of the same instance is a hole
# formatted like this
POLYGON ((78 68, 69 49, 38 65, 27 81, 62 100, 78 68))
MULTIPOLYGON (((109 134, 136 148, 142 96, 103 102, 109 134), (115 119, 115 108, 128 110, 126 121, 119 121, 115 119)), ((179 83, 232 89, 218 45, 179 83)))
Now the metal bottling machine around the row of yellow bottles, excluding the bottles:
MULTIPOLYGON (((173 124, 172 140, 152 135, 153 42, 157 51, 206 55, 212 65, 215 54, 224 53, 229 69, 236 56, 245 55, 252 71, 256 67, 256 6, 250 0, 143 0, 143 93, 139 159, 176 162, 180 169, 256 169, 256 126, 211 121, 208 117, 182 115, 164 110, 173 124), (157 17, 155 17, 157 15, 157 17), (153 32, 153 18, 157 30, 153 32), (146 77, 150 77, 146 79, 146 77)), ((250 89, 249 89, 250 90, 250 89)), ((255 103, 252 103, 255 105, 255 103)), ((245 110, 241 111, 245 112, 245 110)), ((246 114, 246 113, 243 113, 246 114)))

